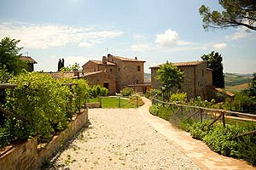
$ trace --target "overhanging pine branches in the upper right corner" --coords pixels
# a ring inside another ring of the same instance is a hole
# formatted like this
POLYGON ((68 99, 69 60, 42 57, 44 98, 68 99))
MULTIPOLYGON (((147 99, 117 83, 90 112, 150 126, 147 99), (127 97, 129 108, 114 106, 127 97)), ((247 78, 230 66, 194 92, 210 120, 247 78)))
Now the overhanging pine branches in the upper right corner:
POLYGON ((211 10, 205 5, 201 5, 203 27, 226 28, 230 26, 245 26, 256 31, 256 1, 255 0, 218 0, 224 11, 211 10))

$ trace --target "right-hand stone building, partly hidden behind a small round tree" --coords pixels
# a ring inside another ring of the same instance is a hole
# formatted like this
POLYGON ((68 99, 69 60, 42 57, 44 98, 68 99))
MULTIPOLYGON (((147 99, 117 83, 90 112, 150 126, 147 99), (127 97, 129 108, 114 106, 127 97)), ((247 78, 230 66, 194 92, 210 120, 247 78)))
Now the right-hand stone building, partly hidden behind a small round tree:
MULTIPOLYGON (((195 96, 201 96, 202 99, 207 99, 206 88, 207 86, 212 86, 212 71, 207 70, 207 61, 172 63, 172 65, 184 71, 183 84, 178 87, 180 92, 187 93, 189 99, 195 96)), ((160 65, 152 66, 150 69, 151 87, 160 88, 161 83, 155 78, 160 65)))

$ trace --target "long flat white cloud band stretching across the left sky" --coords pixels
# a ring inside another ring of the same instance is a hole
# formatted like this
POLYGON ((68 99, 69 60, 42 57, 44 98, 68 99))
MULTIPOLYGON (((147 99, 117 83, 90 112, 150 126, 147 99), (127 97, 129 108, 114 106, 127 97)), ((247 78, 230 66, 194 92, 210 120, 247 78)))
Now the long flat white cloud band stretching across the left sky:
POLYGON ((0 24, 0 38, 20 39, 20 46, 25 48, 60 47, 69 43, 88 48, 122 34, 122 31, 95 31, 90 27, 78 26, 35 25, 20 22, 0 24))

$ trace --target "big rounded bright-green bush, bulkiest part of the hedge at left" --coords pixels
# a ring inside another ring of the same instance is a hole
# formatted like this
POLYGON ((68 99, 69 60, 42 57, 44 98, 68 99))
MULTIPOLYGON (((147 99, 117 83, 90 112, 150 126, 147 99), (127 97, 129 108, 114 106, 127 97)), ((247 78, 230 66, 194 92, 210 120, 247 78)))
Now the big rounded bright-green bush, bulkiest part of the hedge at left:
POLYGON ((38 133, 41 139, 49 139, 52 132, 67 127, 67 105, 72 95, 67 86, 36 72, 22 73, 10 82, 17 87, 8 91, 6 106, 26 119, 9 118, 7 122, 18 139, 38 133))

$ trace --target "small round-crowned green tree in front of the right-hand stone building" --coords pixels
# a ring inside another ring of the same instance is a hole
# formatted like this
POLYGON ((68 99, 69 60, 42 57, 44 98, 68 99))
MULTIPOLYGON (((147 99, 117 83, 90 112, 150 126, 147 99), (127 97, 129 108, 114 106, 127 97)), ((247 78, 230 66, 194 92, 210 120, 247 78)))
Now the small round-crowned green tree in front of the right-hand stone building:
POLYGON ((180 71, 177 66, 172 65, 166 61, 166 64, 160 65, 160 69, 157 71, 156 77, 166 88, 174 88, 180 86, 183 82, 183 71, 180 71))

